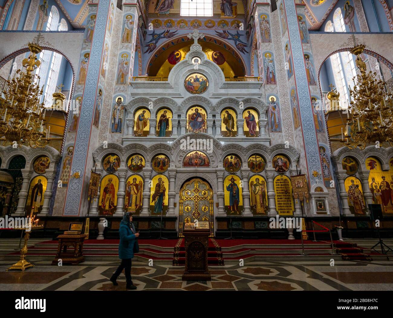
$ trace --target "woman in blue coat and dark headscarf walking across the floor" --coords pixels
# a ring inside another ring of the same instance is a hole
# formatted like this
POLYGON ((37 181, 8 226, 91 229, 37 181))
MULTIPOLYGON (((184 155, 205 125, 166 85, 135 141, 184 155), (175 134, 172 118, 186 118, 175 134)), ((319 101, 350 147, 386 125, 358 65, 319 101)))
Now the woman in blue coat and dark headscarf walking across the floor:
POLYGON ((136 289, 136 286, 132 284, 131 280, 131 260, 134 257, 134 244, 139 233, 136 233, 135 226, 132 223, 132 213, 127 212, 123 216, 123 220, 120 222, 119 236, 119 259, 121 259, 121 264, 110 278, 110 281, 113 285, 117 286, 116 279, 124 269, 127 282, 126 289, 136 289))

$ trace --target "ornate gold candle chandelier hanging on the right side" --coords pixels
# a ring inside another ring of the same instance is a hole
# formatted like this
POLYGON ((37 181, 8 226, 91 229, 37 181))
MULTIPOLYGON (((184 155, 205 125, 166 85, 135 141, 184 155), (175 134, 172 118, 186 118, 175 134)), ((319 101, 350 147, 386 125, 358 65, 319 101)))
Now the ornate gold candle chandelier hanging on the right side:
POLYGON ((393 95, 385 90, 384 81, 375 72, 366 72, 366 64, 360 57, 365 46, 358 45, 351 51, 356 55, 360 74, 353 77, 354 87, 349 87, 351 102, 347 113, 347 128, 342 142, 349 149, 367 145, 389 143, 393 146, 393 95), (349 117, 351 113, 351 118, 349 117))

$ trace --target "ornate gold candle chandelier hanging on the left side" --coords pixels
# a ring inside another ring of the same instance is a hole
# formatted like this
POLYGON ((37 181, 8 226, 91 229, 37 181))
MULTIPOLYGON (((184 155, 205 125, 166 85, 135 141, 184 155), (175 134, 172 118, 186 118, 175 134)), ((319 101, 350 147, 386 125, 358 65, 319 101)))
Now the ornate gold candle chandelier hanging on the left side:
POLYGON ((4 98, 0 97, 0 137, 4 137, 3 145, 45 147, 49 140, 48 134, 44 136, 42 132, 45 99, 40 103, 44 86, 39 88, 40 77, 33 74, 40 66, 36 55, 42 48, 35 43, 28 43, 28 46, 31 54, 22 61, 26 71, 18 69, 13 79, 9 77, 4 86, 4 98))

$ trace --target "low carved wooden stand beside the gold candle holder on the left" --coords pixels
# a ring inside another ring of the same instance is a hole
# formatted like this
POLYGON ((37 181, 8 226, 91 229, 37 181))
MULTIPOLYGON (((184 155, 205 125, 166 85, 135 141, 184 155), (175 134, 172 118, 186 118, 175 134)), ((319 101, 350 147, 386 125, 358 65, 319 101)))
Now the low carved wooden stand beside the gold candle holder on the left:
POLYGON ((57 254, 52 265, 58 265, 59 259, 63 264, 76 265, 83 262, 83 241, 86 236, 86 234, 59 235, 57 237, 59 239, 57 254))

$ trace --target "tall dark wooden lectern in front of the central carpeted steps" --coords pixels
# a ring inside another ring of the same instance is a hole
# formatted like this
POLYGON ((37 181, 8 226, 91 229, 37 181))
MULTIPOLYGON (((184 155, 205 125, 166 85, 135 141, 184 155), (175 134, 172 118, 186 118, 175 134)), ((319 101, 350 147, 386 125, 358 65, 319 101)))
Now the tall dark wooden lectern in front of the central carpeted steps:
POLYGON ((185 269, 182 280, 211 280, 208 269, 210 229, 185 229, 185 269))

